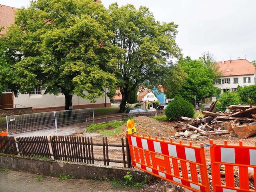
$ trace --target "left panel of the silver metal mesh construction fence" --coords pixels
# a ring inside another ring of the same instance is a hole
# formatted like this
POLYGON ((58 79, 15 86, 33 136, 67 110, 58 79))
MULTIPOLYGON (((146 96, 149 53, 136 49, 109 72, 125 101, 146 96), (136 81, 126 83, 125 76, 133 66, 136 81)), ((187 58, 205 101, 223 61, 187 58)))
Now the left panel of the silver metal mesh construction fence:
POLYGON ((6 116, 8 135, 55 129, 54 112, 6 116))

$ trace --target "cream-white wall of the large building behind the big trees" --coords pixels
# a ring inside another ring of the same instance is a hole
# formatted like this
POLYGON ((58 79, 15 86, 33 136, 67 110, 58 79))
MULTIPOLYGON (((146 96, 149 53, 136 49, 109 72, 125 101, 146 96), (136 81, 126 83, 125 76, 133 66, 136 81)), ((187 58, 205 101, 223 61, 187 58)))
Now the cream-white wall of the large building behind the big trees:
MULTIPOLYGON (((96 104, 99 103, 105 103, 105 98, 96 98, 96 104)), ((110 98, 106 97, 106 103, 110 103, 110 98)), ((14 97, 14 104, 17 104, 17 108, 22 106, 32 108, 60 107, 65 106, 65 96, 62 94, 59 94, 58 96, 54 94, 44 95, 44 90, 42 90, 41 95, 19 94, 17 98, 14 97)), ((73 106, 84 104, 91 104, 91 102, 80 98, 77 95, 73 95, 73 106)))

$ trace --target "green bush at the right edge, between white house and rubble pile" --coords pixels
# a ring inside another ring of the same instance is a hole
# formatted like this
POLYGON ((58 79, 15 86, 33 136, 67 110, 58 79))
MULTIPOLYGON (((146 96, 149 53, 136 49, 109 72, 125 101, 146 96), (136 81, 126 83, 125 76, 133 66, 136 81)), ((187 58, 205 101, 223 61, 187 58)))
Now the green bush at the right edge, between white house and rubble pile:
POLYGON ((256 85, 239 87, 237 94, 244 104, 250 104, 252 102, 253 105, 256 105, 256 85))

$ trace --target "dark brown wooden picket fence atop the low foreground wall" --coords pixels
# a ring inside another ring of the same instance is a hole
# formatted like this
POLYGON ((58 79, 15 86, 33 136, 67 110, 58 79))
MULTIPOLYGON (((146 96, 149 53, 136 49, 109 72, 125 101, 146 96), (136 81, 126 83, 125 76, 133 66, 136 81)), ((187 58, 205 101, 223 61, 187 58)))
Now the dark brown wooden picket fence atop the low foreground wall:
POLYGON ((95 164, 104 162, 109 166, 110 162, 122 163, 124 167, 131 168, 130 152, 127 138, 121 138, 122 144, 108 144, 107 137, 102 138, 101 143, 94 143, 92 137, 74 136, 36 136, 36 137, 14 137, 0 136, 0 153, 28 156, 34 158, 48 158, 70 162, 82 162, 95 164), (17 146, 16 146, 17 143, 17 146), (94 157, 94 147, 102 146, 102 158, 94 157), (120 159, 109 158, 109 147, 120 150, 120 159))

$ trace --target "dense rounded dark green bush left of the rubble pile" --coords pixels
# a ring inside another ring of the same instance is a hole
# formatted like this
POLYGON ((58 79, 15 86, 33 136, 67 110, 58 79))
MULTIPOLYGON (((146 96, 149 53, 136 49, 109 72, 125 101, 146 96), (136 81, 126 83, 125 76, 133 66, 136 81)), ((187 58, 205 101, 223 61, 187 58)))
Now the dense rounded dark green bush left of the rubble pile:
POLYGON ((165 109, 165 115, 169 120, 176 120, 181 116, 193 118, 194 114, 194 106, 188 100, 178 96, 165 109))

